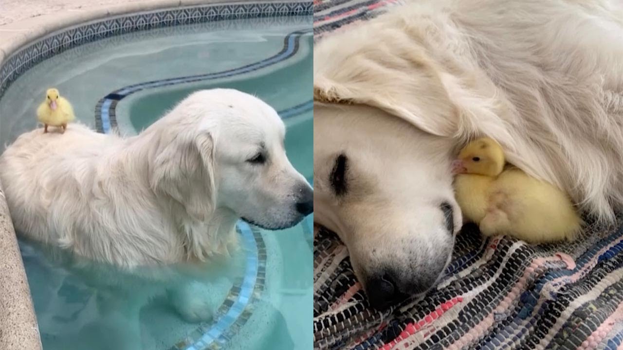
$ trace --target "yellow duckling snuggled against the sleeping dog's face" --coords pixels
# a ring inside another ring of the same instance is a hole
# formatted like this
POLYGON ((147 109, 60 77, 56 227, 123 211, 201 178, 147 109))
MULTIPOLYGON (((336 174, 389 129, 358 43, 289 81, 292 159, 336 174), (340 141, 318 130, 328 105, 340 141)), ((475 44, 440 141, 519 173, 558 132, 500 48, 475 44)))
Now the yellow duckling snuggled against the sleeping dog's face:
POLYGON ((541 243, 571 240, 581 229, 583 222, 562 191, 520 169, 505 169, 504 151, 495 140, 467 144, 452 167, 465 220, 477 223, 483 235, 541 243))

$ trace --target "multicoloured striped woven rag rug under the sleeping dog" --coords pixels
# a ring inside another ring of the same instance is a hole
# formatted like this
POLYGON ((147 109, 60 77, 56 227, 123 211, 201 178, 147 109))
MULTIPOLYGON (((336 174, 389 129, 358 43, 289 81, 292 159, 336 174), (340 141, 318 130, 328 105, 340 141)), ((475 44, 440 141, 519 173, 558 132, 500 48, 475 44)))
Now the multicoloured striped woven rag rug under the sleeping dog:
MULTIPOLYGON (((315 39, 394 4, 316 1, 315 39)), ((589 225, 576 242, 557 245, 483 240, 467 225, 437 288, 383 313, 368 307, 346 247, 316 230, 316 349, 623 350, 621 225, 589 225)))

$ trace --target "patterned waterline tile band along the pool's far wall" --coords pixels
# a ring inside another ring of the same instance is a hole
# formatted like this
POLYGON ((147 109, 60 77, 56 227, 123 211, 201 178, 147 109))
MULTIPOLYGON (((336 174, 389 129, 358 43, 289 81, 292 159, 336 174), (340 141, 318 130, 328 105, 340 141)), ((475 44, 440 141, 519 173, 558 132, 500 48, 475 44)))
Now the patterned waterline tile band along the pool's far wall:
POLYGON ((67 49, 113 35, 226 19, 311 15, 312 1, 207 4, 125 14, 52 32, 18 49, 0 66, 0 98, 22 73, 67 49))

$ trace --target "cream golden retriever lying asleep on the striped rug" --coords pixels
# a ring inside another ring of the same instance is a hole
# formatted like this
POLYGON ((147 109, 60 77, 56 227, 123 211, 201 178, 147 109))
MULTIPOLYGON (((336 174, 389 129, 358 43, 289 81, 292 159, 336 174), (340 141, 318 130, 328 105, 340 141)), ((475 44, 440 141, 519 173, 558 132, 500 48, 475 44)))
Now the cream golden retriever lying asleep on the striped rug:
POLYGON ((450 162, 470 138, 614 218, 621 6, 419 0, 315 45, 314 219, 348 246, 373 305, 426 291, 449 262, 450 162))

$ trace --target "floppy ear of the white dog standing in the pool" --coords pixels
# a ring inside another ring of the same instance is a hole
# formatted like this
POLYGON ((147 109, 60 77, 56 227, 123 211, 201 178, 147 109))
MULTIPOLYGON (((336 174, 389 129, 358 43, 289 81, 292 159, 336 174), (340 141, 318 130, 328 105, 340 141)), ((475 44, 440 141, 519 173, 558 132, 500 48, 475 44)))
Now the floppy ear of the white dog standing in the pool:
POLYGON ((202 133, 193 140, 161 140, 153 163, 150 186, 179 202, 195 220, 204 221, 214 213, 214 140, 202 133))

